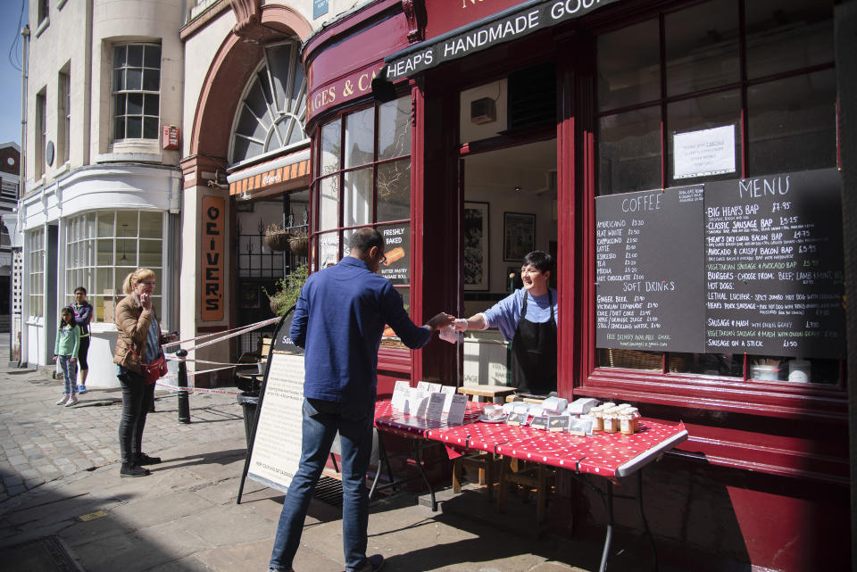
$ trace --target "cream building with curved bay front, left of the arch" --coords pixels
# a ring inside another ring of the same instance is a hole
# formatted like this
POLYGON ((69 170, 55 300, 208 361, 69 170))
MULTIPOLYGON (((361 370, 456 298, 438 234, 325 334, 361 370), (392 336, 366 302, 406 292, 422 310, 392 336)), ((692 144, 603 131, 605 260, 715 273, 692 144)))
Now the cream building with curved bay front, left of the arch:
POLYGON ((84 286, 95 307, 87 385, 117 385, 112 306, 139 267, 177 326, 181 0, 32 2, 27 86, 22 361, 51 363, 59 311, 84 286))

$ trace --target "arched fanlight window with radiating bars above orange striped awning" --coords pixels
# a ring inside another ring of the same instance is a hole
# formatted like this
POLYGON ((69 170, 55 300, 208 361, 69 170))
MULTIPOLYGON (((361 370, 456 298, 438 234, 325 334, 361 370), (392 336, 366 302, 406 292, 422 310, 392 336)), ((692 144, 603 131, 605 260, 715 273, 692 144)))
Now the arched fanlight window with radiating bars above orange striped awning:
POLYGON ((236 112, 229 163, 308 143, 304 120, 306 79, 299 46, 295 42, 266 46, 236 112))

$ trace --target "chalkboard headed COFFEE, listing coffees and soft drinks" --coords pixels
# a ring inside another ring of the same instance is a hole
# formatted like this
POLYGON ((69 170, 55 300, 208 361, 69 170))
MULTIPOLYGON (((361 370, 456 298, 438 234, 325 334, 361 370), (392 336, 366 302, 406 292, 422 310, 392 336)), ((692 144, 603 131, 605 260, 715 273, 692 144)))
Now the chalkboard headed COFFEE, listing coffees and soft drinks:
POLYGON ((596 343, 703 352, 703 186, 595 199, 596 343))

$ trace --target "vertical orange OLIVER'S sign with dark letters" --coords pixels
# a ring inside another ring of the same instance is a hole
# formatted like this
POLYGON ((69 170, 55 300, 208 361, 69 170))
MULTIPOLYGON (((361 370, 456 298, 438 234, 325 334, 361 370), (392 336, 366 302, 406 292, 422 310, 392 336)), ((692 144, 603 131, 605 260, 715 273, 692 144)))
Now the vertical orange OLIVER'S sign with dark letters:
POLYGON ((203 197, 203 321, 223 319, 224 207, 220 196, 203 197))

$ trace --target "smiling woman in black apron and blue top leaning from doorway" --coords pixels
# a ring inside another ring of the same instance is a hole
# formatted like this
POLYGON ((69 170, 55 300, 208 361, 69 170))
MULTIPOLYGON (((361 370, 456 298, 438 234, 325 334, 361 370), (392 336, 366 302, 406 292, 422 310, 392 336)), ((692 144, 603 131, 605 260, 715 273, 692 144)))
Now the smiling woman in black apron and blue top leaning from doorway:
POLYGON ((523 288, 487 311, 456 319, 455 329, 500 328, 512 342, 512 385, 522 394, 556 391, 556 290, 547 286, 553 258, 540 250, 528 253, 520 269, 523 288))

